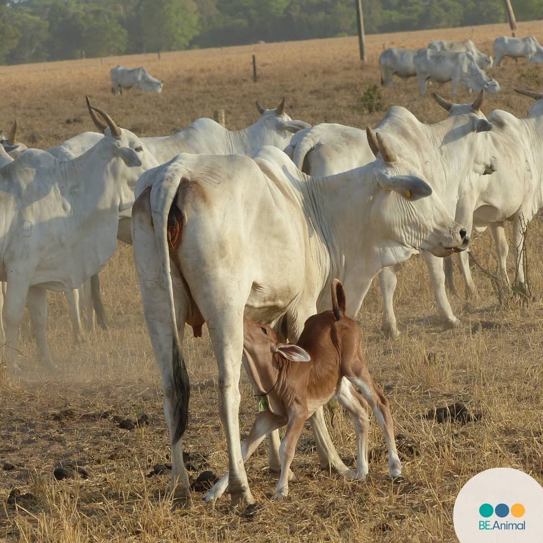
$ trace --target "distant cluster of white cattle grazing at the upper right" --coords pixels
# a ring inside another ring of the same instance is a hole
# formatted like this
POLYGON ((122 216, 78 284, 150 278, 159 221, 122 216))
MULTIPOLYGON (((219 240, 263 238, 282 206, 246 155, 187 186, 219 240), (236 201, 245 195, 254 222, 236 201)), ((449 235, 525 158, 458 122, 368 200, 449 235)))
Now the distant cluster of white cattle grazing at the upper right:
POLYGON ((526 62, 543 62, 543 47, 535 36, 507 37, 494 40, 494 63, 492 57, 481 53, 471 40, 434 40, 427 49, 386 49, 381 53, 381 84, 390 87, 393 76, 402 79, 416 77, 420 94, 426 91, 427 81, 447 83, 452 81, 452 95, 462 83, 470 92, 498 92, 500 84, 488 77, 486 68, 500 66, 504 56, 515 60, 525 58, 526 62))

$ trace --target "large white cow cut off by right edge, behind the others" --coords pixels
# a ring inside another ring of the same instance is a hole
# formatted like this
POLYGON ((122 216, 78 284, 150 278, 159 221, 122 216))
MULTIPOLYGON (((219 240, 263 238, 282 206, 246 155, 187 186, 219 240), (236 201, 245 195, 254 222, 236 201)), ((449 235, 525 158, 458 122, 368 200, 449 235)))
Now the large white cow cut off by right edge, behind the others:
MULTIPOLYGON (((516 89, 515 89, 516 90, 516 89)), ((504 224, 513 223, 513 251, 517 285, 525 291, 525 270, 522 265, 523 223, 531 220, 543 207, 543 93, 516 90, 531 97, 535 103, 528 116, 517 118, 507 111, 494 110, 489 115, 493 123, 490 138, 500 160, 500 167, 491 176, 485 190, 472 200, 472 219, 466 228, 485 229, 487 226, 494 239, 494 247, 501 279, 511 285, 507 274, 509 244, 504 224)), ((459 261, 466 283, 466 292, 475 291, 468 258, 459 261)))

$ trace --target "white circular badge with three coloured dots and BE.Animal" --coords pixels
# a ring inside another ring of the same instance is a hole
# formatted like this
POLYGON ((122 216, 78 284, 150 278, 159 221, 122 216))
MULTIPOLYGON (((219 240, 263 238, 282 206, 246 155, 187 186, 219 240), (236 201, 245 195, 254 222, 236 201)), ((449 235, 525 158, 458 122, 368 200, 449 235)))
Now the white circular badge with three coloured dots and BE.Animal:
POLYGON ((512 468, 477 473, 454 502, 453 523, 460 543, 541 543, 543 488, 512 468))

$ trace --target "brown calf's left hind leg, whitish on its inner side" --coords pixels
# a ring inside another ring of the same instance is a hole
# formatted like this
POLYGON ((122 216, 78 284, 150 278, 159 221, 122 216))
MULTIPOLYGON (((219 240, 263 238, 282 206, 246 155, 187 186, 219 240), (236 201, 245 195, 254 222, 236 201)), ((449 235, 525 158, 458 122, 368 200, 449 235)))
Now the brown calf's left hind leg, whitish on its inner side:
POLYGON ((362 481, 369 471, 368 465, 368 402, 350 386, 344 386, 348 381, 342 379, 339 388, 338 401, 350 413, 356 432, 356 471, 349 470, 345 473, 347 479, 362 481))

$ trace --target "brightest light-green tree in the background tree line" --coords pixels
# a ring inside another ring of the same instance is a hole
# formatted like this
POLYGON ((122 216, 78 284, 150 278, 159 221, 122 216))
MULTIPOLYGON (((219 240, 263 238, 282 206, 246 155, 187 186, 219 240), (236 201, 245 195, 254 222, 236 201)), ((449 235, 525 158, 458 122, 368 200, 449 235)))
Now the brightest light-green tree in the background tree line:
POLYGON ((194 0, 141 0, 140 19, 147 51, 185 49, 198 33, 194 0))

